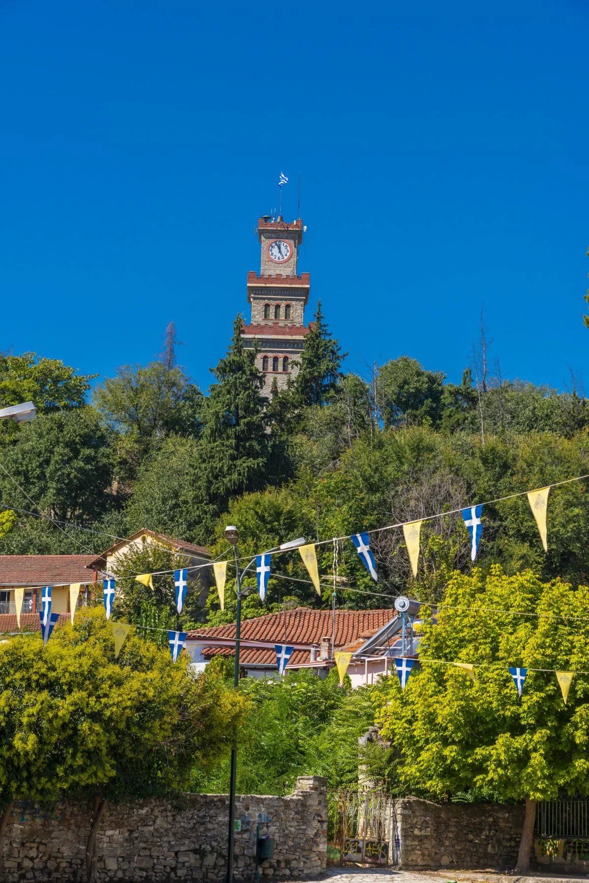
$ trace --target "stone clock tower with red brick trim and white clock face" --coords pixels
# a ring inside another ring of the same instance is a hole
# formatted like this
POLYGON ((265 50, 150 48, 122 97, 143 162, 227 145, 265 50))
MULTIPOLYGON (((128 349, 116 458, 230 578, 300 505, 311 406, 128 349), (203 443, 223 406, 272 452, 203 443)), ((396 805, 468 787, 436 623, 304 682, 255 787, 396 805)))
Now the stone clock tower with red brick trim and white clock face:
POLYGON ((311 287, 308 273, 297 275, 298 246, 303 241, 303 222, 285 223, 282 216, 264 215, 256 233, 261 245, 261 272, 247 274, 247 299, 252 321, 243 326, 245 347, 258 343, 256 364, 264 374, 262 394, 270 396, 273 381, 284 389, 298 368, 298 359, 309 332, 305 306, 311 287))

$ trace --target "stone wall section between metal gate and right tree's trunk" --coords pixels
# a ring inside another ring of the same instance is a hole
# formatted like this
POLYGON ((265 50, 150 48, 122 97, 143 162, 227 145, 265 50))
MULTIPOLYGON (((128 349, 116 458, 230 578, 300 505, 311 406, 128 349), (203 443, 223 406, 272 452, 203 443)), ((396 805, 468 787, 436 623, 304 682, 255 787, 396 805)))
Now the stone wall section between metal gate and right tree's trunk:
POLYGON ((404 869, 513 868, 524 825, 523 806, 396 801, 404 869))

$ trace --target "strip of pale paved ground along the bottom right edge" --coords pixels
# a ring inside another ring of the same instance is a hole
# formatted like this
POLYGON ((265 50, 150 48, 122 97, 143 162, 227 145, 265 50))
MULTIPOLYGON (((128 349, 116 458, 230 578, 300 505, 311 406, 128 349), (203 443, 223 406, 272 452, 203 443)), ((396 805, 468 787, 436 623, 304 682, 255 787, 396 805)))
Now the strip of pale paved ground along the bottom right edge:
POLYGON ((572 883, 585 880, 579 877, 545 877, 532 873, 529 877, 497 871, 396 871, 391 868, 366 868, 349 865, 329 868, 321 875, 326 883, 572 883))

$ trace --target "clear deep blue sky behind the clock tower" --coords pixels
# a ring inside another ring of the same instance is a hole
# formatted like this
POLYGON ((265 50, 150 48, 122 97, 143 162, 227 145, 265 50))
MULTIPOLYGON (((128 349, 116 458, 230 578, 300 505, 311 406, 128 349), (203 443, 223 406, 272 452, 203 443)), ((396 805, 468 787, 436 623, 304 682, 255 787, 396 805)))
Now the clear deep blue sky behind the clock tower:
POLYGON ((504 376, 589 389, 589 11, 514 6, 2 0, 0 350, 109 375, 174 321, 206 389, 283 170, 349 370, 459 381, 484 305, 504 376))

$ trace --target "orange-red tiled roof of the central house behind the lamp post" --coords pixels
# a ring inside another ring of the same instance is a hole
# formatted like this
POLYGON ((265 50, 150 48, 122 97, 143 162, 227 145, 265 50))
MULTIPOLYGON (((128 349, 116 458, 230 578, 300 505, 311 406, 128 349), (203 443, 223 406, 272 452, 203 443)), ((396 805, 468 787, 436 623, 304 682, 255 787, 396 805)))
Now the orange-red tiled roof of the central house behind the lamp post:
MULTIPOLYGON (((396 616, 396 610, 336 610, 335 649, 358 644, 360 635, 372 637, 376 631, 396 616)), ((310 610, 297 608, 286 612, 286 630, 284 614, 275 613, 246 619, 241 623, 240 638, 243 640, 271 641, 274 644, 287 643, 319 644, 321 638, 331 638, 333 613, 331 610, 310 610)), ((187 640, 198 638, 232 638, 235 639, 235 623, 194 629, 188 632, 187 640)), ((360 641, 358 646, 364 642, 360 641)), ((230 647, 206 647, 203 656, 234 656, 235 650, 230 647)), ((296 668, 309 662, 308 650, 294 650, 289 665, 296 668)), ((243 648, 239 653, 242 665, 276 666, 276 653, 265 647, 243 648)))

